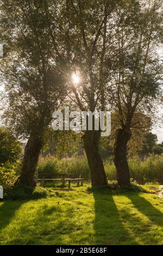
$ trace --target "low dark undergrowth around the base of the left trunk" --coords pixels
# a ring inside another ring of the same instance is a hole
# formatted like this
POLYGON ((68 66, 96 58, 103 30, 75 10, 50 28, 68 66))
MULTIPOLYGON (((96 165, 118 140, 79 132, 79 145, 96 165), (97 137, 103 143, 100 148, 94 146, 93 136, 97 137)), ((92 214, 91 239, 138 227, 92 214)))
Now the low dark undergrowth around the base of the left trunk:
POLYGON ((9 200, 29 200, 41 199, 48 196, 48 191, 37 185, 34 189, 32 187, 13 187, 5 191, 4 198, 9 200))

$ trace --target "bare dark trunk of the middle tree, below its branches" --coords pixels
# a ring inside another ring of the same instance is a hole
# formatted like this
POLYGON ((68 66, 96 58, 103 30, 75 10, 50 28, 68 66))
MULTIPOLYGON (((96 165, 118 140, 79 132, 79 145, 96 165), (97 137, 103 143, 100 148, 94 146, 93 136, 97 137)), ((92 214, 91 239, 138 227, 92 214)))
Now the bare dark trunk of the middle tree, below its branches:
POLYGON ((103 161, 98 149, 100 137, 100 131, 86 131, 83 136, 84 150, 91 170, 92 187, 108 184, 103 161))

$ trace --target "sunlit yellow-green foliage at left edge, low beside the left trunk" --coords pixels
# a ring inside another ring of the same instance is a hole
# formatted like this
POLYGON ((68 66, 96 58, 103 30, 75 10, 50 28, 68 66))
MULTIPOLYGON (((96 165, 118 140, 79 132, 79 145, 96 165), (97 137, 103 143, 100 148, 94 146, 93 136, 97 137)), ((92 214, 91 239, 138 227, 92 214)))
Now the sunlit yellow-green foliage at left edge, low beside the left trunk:
POLYGON ((4 189, 11 188, 14 186, 15 181, 17 180, 17 170, 20 168, 20 161, 16 163, 5 163, 0 166, 0 185, 4 189))

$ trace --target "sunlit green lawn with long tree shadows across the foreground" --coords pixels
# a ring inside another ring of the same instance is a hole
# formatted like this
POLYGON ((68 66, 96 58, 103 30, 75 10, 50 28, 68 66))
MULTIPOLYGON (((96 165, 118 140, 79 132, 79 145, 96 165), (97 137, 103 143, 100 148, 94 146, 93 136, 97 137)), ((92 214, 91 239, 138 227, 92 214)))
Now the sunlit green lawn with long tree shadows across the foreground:
POLYGON ((163 200, 51 188, 47 199, 0 202, 1 245, 163 245, 163 200))

